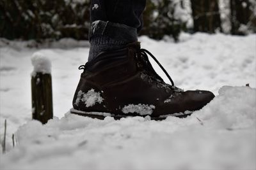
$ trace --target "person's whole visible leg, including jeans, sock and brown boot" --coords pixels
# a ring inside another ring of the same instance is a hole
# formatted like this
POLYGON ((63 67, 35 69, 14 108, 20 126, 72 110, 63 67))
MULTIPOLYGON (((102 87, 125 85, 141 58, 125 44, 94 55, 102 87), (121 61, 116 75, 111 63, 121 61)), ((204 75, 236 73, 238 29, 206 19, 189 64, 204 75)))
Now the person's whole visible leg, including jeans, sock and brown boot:
POLYGON ((137 32, 145 1, 92 1, 91 8, 90 57, 79 67, 84 71, 70 113, 93 118, 150 115, 161 120, 168 115, 186 117, 213 99, 209 91, 175 87, 156 57, 140 48, 137 32), (156 73, 148 57, 172 85, 156 73))

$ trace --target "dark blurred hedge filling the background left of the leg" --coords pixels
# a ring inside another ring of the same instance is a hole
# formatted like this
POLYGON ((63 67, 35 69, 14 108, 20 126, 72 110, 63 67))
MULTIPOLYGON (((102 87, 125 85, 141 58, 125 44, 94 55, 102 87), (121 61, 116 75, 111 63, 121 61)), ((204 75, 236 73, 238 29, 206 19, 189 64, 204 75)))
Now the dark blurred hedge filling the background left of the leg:
POLYGON ((90 1, 0 0, 0 36, 88 39, 90 1))

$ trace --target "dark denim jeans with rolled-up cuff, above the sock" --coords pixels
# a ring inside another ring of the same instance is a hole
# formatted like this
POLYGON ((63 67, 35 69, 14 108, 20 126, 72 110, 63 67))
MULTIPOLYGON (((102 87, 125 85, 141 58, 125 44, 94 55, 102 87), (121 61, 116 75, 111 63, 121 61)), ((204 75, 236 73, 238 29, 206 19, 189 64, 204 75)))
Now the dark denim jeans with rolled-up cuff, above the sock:
POLYGON ((145 5, 146 0, 92 0, 90 38, 109 36, 113 39, 134 39, 143 27, 145 5))

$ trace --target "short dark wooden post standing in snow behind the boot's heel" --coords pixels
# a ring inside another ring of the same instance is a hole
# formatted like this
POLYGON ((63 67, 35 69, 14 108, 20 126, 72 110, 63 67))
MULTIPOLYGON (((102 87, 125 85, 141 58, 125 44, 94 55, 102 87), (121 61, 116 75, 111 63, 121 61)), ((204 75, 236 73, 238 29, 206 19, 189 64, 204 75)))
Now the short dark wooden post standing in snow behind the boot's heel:
MULTIPOLYGON (((37 54, 38 55, 38 54, 37 54)), ((37 55, 34 56, 38 57, 37 55)), ((42 57, 39 55, 39 57, 42 57)), ((52 119, 52 78, 51 73, 41 71, 40 66, 44 66, 45 59, 35 59, 34 71, 31 76, 31 92, 32 92, 32 118, 39 120, 42 124, 46 124, 52 119), (39 66, 39 69, 36 68, 39 66)), ((33 59, 32 59, 33 63, 33 59)), ((46 64, 47 65, 47 64, 46 64)), ((50 63, 51 65, 51 63, 50 63)))

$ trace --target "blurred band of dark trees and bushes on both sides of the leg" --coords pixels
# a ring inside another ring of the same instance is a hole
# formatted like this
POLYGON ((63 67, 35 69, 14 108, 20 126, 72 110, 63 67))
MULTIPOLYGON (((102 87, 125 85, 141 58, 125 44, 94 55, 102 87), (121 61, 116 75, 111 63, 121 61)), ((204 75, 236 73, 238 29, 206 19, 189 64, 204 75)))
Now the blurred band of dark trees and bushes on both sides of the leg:
MULTIPOLYGON (((90 0, 0 0, 0 37, 88 39, 89 10, 90 0)), ((181 31, 242 35, 256 32, 255 16, 255 0, 147 0, 140 34, 175 41, 181 31)))

